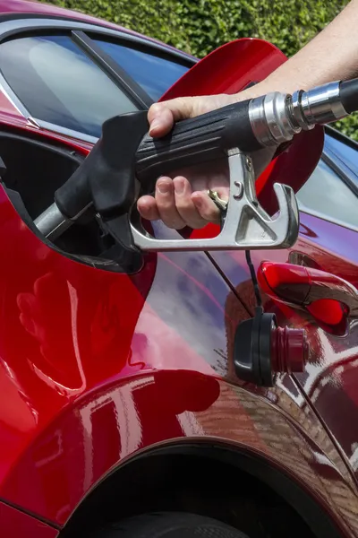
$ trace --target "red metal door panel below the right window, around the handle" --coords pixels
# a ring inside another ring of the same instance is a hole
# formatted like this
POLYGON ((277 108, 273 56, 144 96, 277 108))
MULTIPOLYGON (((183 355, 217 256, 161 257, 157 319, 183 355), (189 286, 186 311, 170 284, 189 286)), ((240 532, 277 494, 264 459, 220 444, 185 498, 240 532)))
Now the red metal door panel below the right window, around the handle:
MULTIPOLYGON (((287 263, 293 255, 304 256, 309 265, 333 273, 358 287, 358 250, 353 247, 357 245, 358 232, 308 213, 301 213, 300 220, 300 237, 291 249, 251 252, 256 270, 263 260, 287 263)), ((244 253, 220 252, 211 253, 211 256, 253 315, 256 302, 244 253)), ((328 334, 308 312, 283 306, 265 296, 264 308, 277 314, 280 325, 305 328, 311 348, 310 360, 305 372, 296 374, 295 378, 358 479, 358 430, 354 418, 358 404, 357 320, 351 320, 348 334, 342 337, 328 334), (342 420, 342 417, 345 419, 342 420)))

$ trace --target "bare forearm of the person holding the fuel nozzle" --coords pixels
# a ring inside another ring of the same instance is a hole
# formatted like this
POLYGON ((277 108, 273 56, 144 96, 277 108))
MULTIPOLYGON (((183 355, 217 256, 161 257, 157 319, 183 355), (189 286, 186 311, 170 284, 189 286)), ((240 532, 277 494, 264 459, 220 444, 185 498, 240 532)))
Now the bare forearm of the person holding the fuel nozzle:
POLYGON ((358 0, 352 0, 314 39, 269 75, 268 91, 291 92, 358 75, 358 0))

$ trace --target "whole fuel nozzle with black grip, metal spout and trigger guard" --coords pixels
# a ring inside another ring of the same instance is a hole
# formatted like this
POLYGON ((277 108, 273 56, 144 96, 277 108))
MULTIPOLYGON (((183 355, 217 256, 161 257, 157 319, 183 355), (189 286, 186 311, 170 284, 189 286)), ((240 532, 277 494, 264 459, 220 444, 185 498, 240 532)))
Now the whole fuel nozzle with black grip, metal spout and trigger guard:
POLYGON ((256 197, 251 154, 357 109, 355 79, 293 95, 273 92, 234 102, 176 122, 170 133, 156 139, 148 133, 143 110, 109 118, 98 143, 56 190, 55 203, 38 216, 35 225, 54 240, 73 222, 96 214, 106 233, 131 252, 290 247, 297 239, 299 222, 294 191, 278 183, 274 186, 279 216, 271 219, 256 197), (221 159, 228 160, 230 169, 230 198, 221 233, 211 239, 150 237, 135 212, 138 196, 151 195, 159 176, 221 159))

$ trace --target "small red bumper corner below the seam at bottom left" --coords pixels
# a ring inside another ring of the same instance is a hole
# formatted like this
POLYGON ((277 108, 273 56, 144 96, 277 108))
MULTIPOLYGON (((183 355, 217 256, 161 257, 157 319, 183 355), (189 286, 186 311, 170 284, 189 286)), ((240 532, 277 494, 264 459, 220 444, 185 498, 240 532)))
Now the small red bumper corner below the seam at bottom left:
POLYGON ((0 502, 0 532, 11 538, 56 538, 58 530, 0 502))

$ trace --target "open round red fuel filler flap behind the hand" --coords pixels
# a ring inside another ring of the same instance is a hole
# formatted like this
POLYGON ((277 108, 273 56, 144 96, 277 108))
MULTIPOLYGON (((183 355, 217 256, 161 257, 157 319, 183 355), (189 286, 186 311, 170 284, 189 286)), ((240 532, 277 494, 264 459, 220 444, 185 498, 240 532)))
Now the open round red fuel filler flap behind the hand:
MULTIPOLYGON (((236 39, 200 60, 166 91, 161 100, 190 97, 193 94, 232 94, 242 91, 251 82, 264 80, 279 65, 284 64, 286 59, 277 47, 267 41, 236 39)), ((268 213, 273 214, 278 209, 274 183, 290 185, 297 192, 316 168, 323 140, 321 126, 295 136, 286 151, 280 153, 263 171, 256 181, 256 192, 268 213)), ((191 237, 213 237, 217 233, 218 228, 209 225, 203 230, 194 230, 191 237)))

